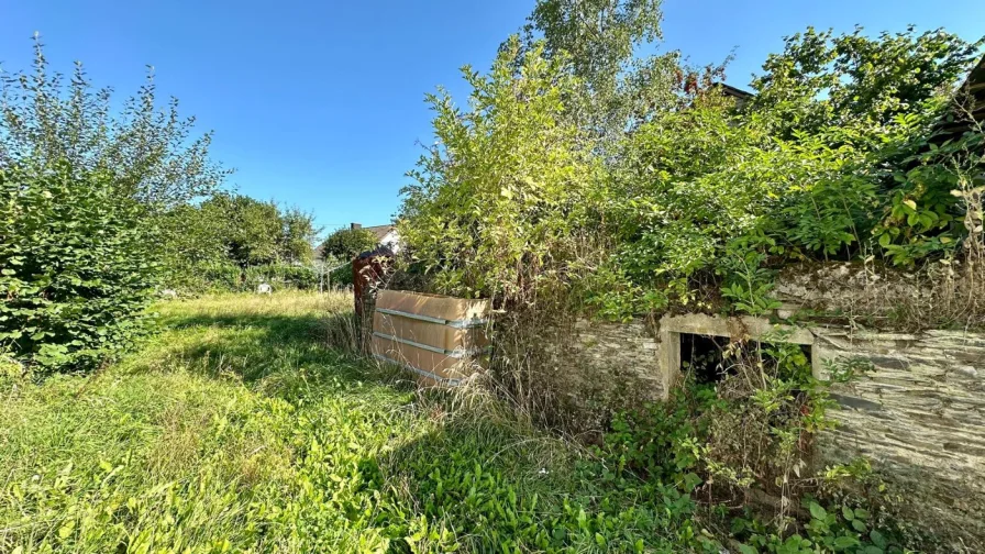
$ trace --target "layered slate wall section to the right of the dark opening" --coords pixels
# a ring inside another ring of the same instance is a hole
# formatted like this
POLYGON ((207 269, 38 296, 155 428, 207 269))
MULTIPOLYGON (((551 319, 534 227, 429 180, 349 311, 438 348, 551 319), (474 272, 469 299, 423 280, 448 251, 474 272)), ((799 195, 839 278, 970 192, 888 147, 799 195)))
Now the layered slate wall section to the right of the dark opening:
POLYGON ((985 334, 812 328, 822 359, 862 357, 875 370, 835 391, 829 461, 865 455, 929 529, 985 540, 985 334))

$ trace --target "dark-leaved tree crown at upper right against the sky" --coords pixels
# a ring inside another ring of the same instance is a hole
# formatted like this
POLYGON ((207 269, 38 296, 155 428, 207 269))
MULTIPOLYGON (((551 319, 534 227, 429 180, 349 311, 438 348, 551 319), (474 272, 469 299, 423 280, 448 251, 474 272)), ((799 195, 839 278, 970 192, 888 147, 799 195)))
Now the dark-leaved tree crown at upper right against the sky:
POLYGON ((830 126, 884 126, 925 110, 932 119, 983 44, 940 29, 918 33, 912 25, 876 36, 862 27, 840 35, 808 27, 766 58, 752 81, 751 108, 785 138, 830 126))

